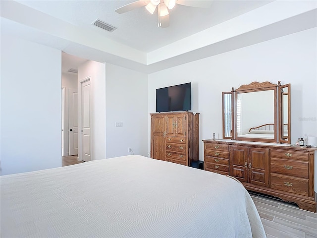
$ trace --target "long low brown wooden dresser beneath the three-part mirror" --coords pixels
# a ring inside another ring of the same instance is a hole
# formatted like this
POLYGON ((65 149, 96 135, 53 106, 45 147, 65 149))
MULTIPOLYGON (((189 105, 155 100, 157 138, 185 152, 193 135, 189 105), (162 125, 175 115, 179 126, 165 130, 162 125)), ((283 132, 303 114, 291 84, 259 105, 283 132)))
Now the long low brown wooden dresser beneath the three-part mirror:
POLYGON ((204 169, 239 179, 248 190, 295 202, 317 212, 316 148, 243 141, 204 140, 204 169))

